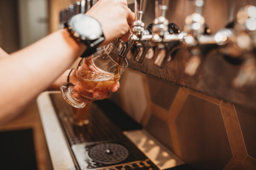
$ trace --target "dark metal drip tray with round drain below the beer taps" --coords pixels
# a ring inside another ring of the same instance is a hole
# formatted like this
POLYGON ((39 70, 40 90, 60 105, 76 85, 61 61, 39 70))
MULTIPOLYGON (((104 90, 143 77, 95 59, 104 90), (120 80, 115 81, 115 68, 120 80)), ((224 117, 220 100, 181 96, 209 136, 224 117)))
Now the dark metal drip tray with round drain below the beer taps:
POLYGON ((93 103, 89 124, 72 123, 73 109, 61 94, 49 94, 77 169, 158 170, 93 103))

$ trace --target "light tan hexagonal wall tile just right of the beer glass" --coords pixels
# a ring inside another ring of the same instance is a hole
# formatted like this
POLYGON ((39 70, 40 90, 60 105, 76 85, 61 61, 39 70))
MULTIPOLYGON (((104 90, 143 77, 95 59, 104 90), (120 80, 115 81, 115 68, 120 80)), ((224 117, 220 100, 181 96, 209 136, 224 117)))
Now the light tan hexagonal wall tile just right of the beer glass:
POLYGON ((137 122, 140 122, 148 105, 142 74, 132 70, 127 70, 125 74, 125 83, 122 84, 121 92, 123 109, 137 122))

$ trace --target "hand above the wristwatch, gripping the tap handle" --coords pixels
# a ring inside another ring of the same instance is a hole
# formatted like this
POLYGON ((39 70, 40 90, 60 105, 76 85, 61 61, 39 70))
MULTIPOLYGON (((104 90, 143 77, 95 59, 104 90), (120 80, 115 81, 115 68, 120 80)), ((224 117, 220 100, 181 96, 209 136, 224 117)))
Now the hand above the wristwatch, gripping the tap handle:
POLYGON ((126 42, 131 35, 135 14, 128 8, 127 0, 99 0, 86 14, 102 25, 105 35, 102 45, 119 37, 126 42))

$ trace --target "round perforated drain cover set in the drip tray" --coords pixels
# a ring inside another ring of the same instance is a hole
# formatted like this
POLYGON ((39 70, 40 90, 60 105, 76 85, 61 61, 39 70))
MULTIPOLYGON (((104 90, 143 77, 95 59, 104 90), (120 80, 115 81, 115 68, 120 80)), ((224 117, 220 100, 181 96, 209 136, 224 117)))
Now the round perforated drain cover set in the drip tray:
POLYGON ((89 156, 98 163, 116 164, 125 160, 129 156, 129 152, 120 144, 106 143, 92 147, 89 156))

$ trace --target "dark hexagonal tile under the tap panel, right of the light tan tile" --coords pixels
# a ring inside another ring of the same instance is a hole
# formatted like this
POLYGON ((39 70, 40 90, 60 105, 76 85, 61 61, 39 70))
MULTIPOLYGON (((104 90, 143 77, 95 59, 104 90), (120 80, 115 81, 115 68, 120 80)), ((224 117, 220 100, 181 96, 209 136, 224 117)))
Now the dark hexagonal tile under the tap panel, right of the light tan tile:
POLYGON ((168 111, 177 94, 177 91, 179 90, 179 87, 171 82, 166 82, 149 76, 148 86, 151 101, 168 111))

